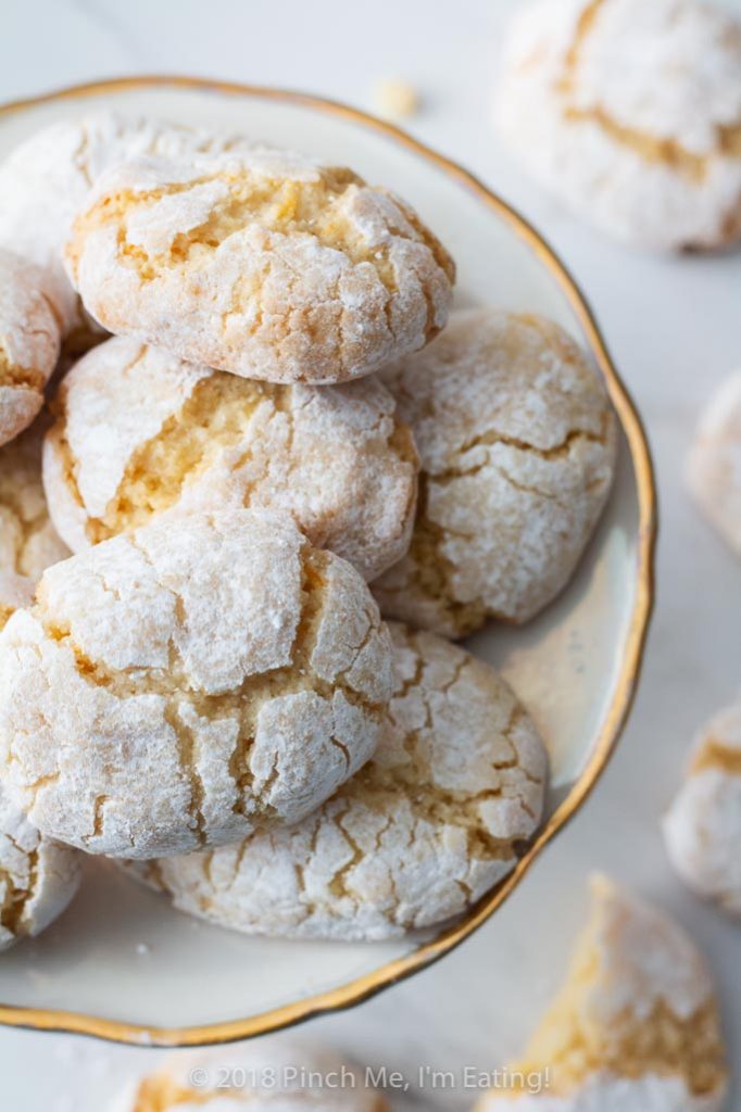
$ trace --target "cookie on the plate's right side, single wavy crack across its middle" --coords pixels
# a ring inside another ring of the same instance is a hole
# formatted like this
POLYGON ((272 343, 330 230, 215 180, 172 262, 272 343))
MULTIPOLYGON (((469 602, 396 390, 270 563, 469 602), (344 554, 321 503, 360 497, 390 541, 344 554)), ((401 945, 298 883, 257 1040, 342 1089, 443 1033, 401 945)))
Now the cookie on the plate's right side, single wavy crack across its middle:
POLYGON ((382 377, 422 457, 412 547, 374 585, 382 612, 451 637, 527 622, 610 492, 616 425, 596 375, 557 325, 475 309, 382 377))

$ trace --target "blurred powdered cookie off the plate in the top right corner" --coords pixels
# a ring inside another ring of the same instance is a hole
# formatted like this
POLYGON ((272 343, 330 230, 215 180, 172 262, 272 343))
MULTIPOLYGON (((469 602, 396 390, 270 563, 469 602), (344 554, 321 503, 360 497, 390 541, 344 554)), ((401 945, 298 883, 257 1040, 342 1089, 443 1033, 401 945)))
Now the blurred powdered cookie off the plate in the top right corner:
POLYGON ((741 23, 698 0, 540 0, 511 27, 496 120, 575 212, 638 247, 741 236, 741 23))

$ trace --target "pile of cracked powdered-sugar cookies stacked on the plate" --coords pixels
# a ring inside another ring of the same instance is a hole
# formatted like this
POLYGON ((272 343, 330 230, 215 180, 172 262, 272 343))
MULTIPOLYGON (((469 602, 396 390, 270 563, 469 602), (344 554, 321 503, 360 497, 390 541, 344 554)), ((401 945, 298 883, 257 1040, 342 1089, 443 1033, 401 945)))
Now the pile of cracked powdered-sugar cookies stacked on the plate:
POLYGON ((616 443, 583 353, 495 306, 448 324, 405 201, 240 137, 58 125, 0 211, 0 817, 65 862, 19 880, 0 831, 0 944, 76 851, 248 933, 460 914, 547 761, 445 638, 576 567, 616 443))

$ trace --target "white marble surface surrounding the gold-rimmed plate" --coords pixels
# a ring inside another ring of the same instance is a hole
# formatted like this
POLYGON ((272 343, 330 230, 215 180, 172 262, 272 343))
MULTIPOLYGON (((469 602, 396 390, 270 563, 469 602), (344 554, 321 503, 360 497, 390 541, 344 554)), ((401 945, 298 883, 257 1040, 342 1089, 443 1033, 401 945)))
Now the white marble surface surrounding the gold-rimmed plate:
MULTIPOLYGON (((478 935, 419 977, 312 1025, 313 1036, 402 1070, 411 1088, 399 1105, 416 1098, 466 1109, 474 1093, 461 1085, 415 1093, 417 1068, 494 1069, 517 1051, 559 981, 592 868, 661 901, 708 952, 741 1072, 741 930, 682 890, 658 828, 692 732, 741 684, 741 564, 682 486, 698 408, 712 384, 741 365, 741 251, 676 260, 630 254, 518 172, 490 127, 497 41, 514 2, 12 0, 2 11, 2 100, 103 76, 189 72, 373 108, 376 80, 409 80, 424 98, 409 130, 477 172, 547 235, 586 290, 646 420, 662 508, 659 602, 618 756, 587 807, 478 935)), ((729 2, 741 10, 741 0, 729 2)), ((0 1029, 0 1108, 102 1112, 122 1079, 154 1066, 158 1053, 0 1029)), ((740 1102, 737 1094, 729 1108, 740 1102)))

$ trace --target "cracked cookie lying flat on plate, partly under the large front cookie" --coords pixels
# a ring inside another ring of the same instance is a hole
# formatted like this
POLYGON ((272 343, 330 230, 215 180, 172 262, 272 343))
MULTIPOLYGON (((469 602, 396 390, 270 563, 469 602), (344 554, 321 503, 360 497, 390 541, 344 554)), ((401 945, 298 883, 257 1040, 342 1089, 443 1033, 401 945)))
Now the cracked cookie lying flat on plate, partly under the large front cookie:
POLYGON ((316 814, 209 854, 130 866, 247 934, 375 941, 465 911, 516 864, 546 756, 483 661, 392 625, 396 686, 373 759, 316 814))

